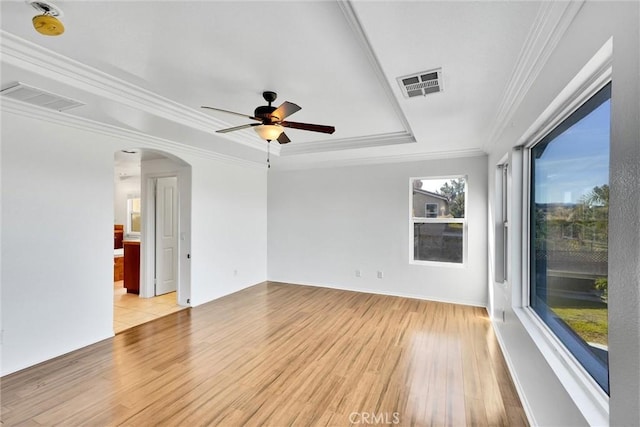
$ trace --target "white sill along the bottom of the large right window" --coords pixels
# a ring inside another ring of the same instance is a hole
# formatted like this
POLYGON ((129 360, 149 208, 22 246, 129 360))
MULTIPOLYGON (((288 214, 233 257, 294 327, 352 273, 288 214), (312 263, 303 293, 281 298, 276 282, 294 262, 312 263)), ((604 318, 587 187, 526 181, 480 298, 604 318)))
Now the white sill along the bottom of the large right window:
POLYGON ((609 396, 528 307, 514 312, 589 425, 609 425, 609 396))

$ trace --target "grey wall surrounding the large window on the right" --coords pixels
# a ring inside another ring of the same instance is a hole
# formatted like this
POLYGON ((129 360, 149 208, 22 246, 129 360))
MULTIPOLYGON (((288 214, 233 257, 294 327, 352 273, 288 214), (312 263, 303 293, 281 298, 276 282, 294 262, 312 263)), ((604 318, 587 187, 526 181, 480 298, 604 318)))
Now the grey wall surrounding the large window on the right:
MULTIPOLYGON (((510 152, 518 139, 547 108, 587 61, 613 36, 613 93, 611 142, 611 200, 609 242, 609 369, 611 425, 640 425, 640 11, 638 2, 586 2, 549 57, 512 119, 512 126, 495 141, 489 170, 510 152)), ((495 218, 495 176, 489 173, 490 218, 495 218)), ((490 224, 492 227, 493 224, 490 224)), ((493 242, 493 239, 489 239, 493 242)), ((489 253, 494 253, 493 244, 489 253)), ((515 260, 515 257, 512 257, 515 260)), ((490 262, 490 265, 493 263, 490 262)), ((524 403, 538 425, 585 425, 587 420, 543 358, 512 307, 520 305, 521 286, 494 282, 490 272, 490 301, 494 314, 506 310, 506 322, 495 327, 505 356, 523 392, 524 403)), ((498 316, 496 316, 498 317, 498 316)), ((571 390, 575 395, 580 390, 571 390)), ((582 400, 580 408, 586 413, 582 400)))

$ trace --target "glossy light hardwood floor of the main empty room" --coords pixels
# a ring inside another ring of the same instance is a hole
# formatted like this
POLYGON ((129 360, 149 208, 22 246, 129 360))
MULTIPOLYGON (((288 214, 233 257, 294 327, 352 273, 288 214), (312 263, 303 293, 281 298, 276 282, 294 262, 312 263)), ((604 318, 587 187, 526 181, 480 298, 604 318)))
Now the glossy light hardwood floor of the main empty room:
POLYGON ((264 283, 2 378, 4 425, 519 426, 486 310, 264 283))

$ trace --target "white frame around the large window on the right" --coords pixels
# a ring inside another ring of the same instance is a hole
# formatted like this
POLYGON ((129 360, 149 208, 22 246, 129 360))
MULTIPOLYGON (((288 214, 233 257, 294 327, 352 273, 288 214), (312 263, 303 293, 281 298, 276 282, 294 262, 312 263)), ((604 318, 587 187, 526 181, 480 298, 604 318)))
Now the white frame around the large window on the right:
POLYGON ((518 259, 512 258, 510 262, 511 279, 514 280, 513 310, 578 409, 592 425, 608 423, 609 396, 529 306, 530 149, 600 89, 612 82, 611 58, 610 39, 518 140, 510 156, 512 191, 517 199, 514 199, 516 204, 511 205, 513 209, 509 237, 510 243, 520 252, 518 259))

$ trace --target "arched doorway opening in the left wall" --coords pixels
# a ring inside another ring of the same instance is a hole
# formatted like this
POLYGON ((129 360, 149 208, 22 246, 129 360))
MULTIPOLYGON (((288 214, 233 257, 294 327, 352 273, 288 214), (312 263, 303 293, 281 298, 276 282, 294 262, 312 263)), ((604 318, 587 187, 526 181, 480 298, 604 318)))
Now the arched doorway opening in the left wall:
POLYGON ((114 332, 190 305, 191 167, 127 149, 114 167, 114 332))

